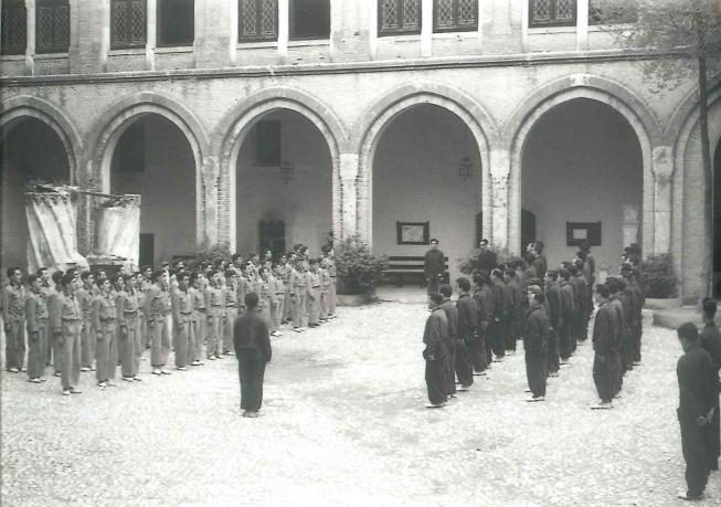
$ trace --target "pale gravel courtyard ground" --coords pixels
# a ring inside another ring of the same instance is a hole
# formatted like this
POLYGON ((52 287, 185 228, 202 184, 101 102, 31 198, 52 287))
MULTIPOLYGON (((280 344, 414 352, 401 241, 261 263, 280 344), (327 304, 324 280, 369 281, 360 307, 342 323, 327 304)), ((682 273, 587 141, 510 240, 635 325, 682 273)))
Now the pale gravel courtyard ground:
MULTIPOLYGON (((526 403, 522 347, 425 409, 423 305, 341 308, 274 339, 263 416, 236 361, 78 397, 2 372, 2 505, 681 505, 675 334, 647 326, 614 410, 592 411, 590 344, 526 403)), ((146 353, 147 356, 147 353, 146 353)), ((721 476, 709 498, 719 505, 721 476)))

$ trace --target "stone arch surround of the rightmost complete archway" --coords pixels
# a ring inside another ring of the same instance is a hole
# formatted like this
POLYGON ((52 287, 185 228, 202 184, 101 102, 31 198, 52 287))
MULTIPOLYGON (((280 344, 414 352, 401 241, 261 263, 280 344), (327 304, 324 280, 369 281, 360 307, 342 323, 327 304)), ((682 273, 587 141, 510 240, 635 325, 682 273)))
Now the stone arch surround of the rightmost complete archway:
MULTIPOLYGON (((558 80, 531 94, 513 114, 501 136, 505 150, 510 155, 510 172, 499 171, 495 175, 495 184, 508 186, 508 196, 521 196, 521 159, 526 140, 533 126, 552 108, 574 98, 587 98, 600 102, 621 114, 632 126, 638 139, 643 157, 643 247, 645 252, 654 251, 654 148, 661 146, 662 135, 655 116, 644 103, 629 89, 609 80, 591 76, 573 75, 558 80)), ((508 196, 501 199, 510 200, 508 196)), ((495 198, 498 193, 495 193, 495 198)), ((494 226, 497 224, 495 223, 494 226)), ((521 208, 509 207, 508 222, 501 224, 508 228, 508 246, 518 252, 520 247, 521 208)))

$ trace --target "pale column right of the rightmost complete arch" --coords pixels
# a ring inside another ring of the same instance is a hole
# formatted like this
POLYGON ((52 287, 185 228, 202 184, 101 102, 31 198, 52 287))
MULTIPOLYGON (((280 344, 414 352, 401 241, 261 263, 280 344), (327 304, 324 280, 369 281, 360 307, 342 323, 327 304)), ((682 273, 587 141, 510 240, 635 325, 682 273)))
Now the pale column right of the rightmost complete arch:
MULTIPOLYGON (((654 253, 671 251, 671 177, 674 175, 674 150, 670 146, 658 146, 653 151, 654 171, 654 253)), ((646 231, 644 231, 646 232, 646 231)))

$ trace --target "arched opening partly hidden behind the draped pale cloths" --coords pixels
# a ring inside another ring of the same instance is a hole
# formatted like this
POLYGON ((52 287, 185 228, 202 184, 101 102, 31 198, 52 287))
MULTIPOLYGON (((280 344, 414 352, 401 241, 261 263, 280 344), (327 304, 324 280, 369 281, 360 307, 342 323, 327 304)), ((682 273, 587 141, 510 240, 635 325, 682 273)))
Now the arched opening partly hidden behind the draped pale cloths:
POLYGON ((176 124, 155 113, 126 124, 112 154, 110 192, 140 201, 139 263, 195 251, 195 158, 176 124))

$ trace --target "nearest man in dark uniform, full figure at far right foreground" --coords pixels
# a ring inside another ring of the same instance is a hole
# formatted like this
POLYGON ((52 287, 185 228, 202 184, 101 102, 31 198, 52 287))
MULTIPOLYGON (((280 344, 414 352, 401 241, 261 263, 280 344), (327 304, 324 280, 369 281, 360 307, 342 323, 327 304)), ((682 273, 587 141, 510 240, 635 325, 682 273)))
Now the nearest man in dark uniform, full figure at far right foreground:
MULTIPOLYGON (((699 344, 697 327, 691 323, 677 329, 683 348, 678 360, 679 408, 678 420, 681 425, 681 446, 686 460, 686 500, 703 498, 709 479, 709 431, 713 419, 714 397, 718 397, 718 379, 711 356, 699 344)), ((717 398, 718 400, 718 398, 717 398)))

